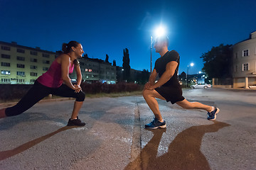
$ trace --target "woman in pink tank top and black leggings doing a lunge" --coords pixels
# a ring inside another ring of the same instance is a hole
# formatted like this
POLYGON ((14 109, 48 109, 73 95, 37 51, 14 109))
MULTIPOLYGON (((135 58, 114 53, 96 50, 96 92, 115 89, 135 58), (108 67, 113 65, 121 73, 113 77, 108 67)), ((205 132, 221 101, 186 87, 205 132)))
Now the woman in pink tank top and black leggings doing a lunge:
POLYGON ((46 73, 36 79, 33 87, 21 98, 21 101, 15 106, 0 110, 0 118, 19 115, 38 103, 38 101, 41 101, 44 97, 53 94, 56 96, 76 98, 73 113, 68 120, 68 126, 85 125, 85 123, 78 119, 78 112, 85 100, 85 93, 82 92, 80 87, 82 74, 77 60, 82 57, 84 51, 82 50, 82 45, 76 41, 70 41, 68 44, 63 43, 62 50, 63 53, 53 61, 46 73), (78 77, 76 85, 71 83, 70 77, 68 76, 73 72, 74 68, 78 77))

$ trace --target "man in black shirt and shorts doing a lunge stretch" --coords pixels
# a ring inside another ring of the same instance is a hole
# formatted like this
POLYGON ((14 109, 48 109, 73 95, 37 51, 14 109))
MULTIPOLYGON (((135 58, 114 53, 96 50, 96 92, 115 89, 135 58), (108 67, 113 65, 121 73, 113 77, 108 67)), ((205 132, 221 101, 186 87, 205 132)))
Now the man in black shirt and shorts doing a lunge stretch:
POLYGON ((154 120, 145 125, 148 129, 166 128, 166 122, 159 111, 156 98, 177 103, 182 108, 198 108, 207 111, 208 120, 215 120, 219 108, 207 106, 198 102, 189 102, 182 96, 181 85, 178 83, 179 55, 175 50, 168 50, 169 39, 164 37, 156 38, 154 48, 161 55, 155 62, 153 72, 149 77, 149 82, 144 86, 143 97, 149 108, 154 113, 154 120), (155 83, 156 76, 159 74, 159 81, 155 83))

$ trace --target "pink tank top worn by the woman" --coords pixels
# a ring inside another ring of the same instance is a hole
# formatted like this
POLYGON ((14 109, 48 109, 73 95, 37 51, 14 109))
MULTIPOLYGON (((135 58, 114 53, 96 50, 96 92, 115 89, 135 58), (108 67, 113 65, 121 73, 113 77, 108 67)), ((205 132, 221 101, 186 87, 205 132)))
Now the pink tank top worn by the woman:
MULTIPOLYGON (((74 64, 69 67, 69 74, 73 73, 74 64)), ((61 64, 56 60, 50 65, 50 68, 46 73, 38 77, 37 81, 43 86, 48 86, 50 88, 57 88, 63 84, 63 79, 61 78, 61 64)))

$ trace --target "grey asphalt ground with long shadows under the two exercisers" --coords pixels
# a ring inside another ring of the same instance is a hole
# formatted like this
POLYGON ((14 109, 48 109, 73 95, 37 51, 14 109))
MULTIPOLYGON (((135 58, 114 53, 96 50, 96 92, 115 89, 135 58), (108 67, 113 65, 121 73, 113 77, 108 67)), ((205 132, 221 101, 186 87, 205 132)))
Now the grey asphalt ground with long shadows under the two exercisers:
POLYGON ((0 120, 0 169, 256 169, 256 91, 191 89, 188 101, 206 112, 166 101, 166 130, 145 130, 153 113, 142 96, 87 98, 83 128, 65 126, 73 101, 38 103, 0 120))

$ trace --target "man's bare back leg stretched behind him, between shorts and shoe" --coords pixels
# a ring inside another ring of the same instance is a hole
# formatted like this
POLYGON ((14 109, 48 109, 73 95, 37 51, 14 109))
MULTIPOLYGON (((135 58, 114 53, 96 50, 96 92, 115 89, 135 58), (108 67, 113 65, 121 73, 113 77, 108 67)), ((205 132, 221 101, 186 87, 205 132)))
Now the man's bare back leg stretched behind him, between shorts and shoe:
POLYGON ((186 109, 197 108, 197 109, 203 109, 208 112, 213 110, 212 106, 207 106, 199 102, 189 102, 186 99, 184 99, 183 101, 177 101, 176 103, 178 104, 178 106, 181 106, 182 108, 186 108, 186 109))

